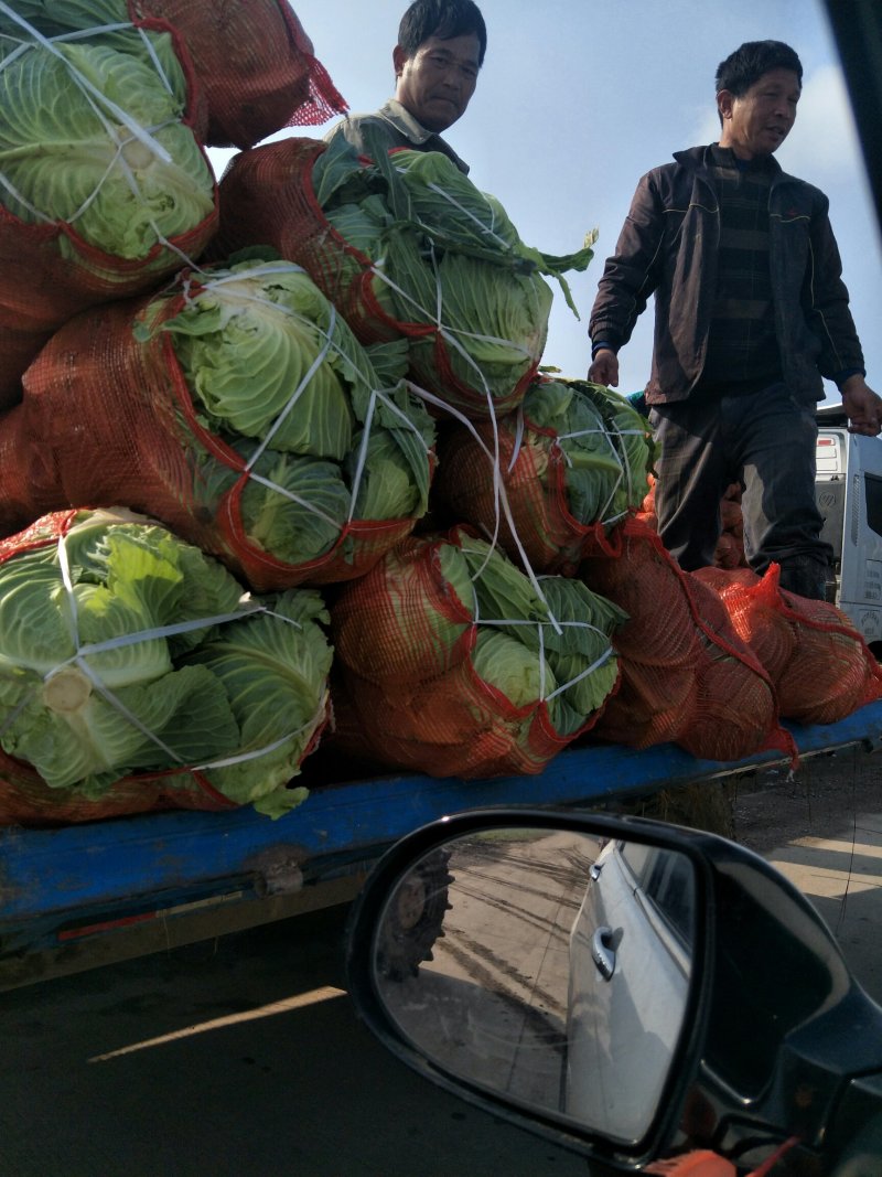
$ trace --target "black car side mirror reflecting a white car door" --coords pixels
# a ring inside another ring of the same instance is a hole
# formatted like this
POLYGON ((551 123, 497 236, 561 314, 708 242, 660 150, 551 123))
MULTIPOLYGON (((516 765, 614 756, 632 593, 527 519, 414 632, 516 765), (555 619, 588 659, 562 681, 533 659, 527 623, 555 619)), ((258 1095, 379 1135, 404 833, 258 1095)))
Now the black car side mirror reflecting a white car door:
POLYGON ((882 1072, 882 1011, 814 907, 743 847, 656 822, 433 823, 368 880, 347 969, 401 1059, 612 1172, 782 1132, 817 1150, 851 1077, 882 1072))

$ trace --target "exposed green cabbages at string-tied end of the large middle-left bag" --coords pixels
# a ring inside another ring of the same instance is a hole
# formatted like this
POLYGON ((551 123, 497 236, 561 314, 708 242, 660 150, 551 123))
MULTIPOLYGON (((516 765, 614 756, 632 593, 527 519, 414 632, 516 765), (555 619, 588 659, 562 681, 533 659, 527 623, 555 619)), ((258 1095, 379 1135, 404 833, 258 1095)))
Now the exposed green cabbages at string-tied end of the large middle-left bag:
MULTIPOLYGON (((350 518, 425 514, 435 433, 401 379, 406 344, 362 347, 299 266, 213 270, 188 284, 162 330, 200 421, 253 476, 240 499, 253 543, 301 564, 326 554, 350 518)), ((211 508, 241 472, 212 452, 198 464, 211 508)))

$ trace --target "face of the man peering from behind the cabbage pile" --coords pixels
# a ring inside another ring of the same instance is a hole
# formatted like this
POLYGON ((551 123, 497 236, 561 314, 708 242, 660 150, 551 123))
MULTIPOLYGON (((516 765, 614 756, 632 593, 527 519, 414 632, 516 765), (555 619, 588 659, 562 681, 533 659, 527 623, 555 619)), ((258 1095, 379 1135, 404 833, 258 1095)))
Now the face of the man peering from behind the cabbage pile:
POLYGON ((393 51, 395 98, 427 131, 447 131, 466 111, 475 92, 481 46, 477 36, 430 36, 413 56, 393 51))

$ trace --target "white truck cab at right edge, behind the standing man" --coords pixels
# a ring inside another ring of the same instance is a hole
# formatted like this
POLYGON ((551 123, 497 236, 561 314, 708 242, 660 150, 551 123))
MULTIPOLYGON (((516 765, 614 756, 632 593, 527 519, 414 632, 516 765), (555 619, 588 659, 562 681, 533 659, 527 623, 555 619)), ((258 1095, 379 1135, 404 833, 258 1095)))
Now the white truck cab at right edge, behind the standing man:
POLYGON ((816 498, 834 550, 835 604, 882 647, 882 438, 849 433, 838 405, 817 420, 816 498))

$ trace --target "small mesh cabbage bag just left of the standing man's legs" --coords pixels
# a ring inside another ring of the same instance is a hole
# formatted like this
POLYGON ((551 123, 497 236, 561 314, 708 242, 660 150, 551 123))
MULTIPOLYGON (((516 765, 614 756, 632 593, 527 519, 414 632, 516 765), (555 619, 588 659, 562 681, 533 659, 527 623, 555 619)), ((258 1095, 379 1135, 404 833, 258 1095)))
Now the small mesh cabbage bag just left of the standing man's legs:
POLYGON ((494 537, 516 563, 572 576, 588 538, 643 501, 653 460, 644 419, 584 380, 535 380, 492 421, 445 431, 433 506, 494 537))

